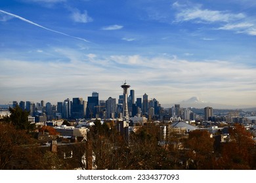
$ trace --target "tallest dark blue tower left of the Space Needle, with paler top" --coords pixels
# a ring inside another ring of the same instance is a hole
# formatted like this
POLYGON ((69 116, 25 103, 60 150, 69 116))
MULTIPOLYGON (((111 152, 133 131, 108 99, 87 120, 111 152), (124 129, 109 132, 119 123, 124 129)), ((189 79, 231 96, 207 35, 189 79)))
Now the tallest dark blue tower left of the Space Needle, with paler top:
POLYGON ((87 118, 96 118, 96 111, 98 107, 98 93, 93 92, 91 97, 87 100, 87 118))

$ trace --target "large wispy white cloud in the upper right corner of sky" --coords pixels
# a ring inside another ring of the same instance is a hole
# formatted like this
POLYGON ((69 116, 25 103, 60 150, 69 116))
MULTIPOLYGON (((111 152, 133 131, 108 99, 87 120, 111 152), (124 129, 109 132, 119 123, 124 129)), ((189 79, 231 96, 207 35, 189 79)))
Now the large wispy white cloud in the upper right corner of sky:
POLYGON ((215 30, 235 31, 236 33, 246 33, 256 35, 255 20, 250 20, 244 12, 232 13, 229 11, 209 10, 199 4, 173 3, 173 8, 177 10, 175 22, 193 22, 195 24, 219 25, 215 30))

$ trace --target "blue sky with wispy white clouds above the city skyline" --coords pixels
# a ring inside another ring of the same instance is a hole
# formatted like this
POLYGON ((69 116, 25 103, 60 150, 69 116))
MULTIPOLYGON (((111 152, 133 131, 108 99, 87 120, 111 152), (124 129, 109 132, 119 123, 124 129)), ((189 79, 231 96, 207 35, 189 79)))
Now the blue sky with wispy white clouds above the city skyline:
POLYGON ((255 0, 0 2, 0 104, 190 97, 256 106, 255 0))

